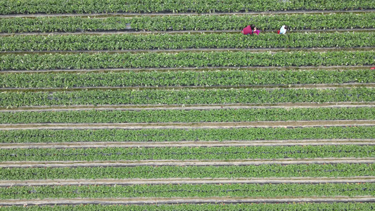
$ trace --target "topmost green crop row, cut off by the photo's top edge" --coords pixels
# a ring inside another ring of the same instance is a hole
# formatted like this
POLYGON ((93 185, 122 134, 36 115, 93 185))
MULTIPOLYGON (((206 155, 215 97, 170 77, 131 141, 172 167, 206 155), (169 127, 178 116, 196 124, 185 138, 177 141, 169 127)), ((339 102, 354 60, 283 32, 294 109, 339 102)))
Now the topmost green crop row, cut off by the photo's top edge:
POLYGON ((271 1, 271 0, 196 0, 196 1, 0 1, 0 14, 14 13, 215 13, 239 11, 293 11, 293 10, 348 10, 375 8, 373 1, 355 0, 309 0, 309 1, 271 1))

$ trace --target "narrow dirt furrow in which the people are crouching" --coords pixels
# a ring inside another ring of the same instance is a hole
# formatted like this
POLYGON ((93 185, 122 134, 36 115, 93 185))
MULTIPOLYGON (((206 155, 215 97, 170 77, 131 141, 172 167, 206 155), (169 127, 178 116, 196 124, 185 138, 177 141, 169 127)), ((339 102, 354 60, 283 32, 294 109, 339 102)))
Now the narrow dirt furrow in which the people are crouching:
MULTIPOLYGON (((374 32, 375 28, 367 29, 336 29, 336 30, 289 30, 288 33, 293 32, 374 32)), ((262 33, 276 33, 277 30, 262 31, 262 33)), ((68 35, 68 34, 194 34, 194 33, 241 33, 241 30, 176 30, 176 31, 134 31, 134 30, 108 30, 98 32, 17 32, 17 33, 3 33, 1 36, 12 35, 68 35)))

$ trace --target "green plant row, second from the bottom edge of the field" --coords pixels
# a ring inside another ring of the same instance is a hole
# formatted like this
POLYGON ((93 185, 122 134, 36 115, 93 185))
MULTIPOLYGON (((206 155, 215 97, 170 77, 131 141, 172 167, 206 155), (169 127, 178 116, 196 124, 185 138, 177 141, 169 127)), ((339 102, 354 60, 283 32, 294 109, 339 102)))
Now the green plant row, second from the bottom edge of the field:
POLYGON ((10 186, 1 199, 122 197, 280 197, 375 196, 375 183, 364 184, 167 184, 132 186, 10 186))

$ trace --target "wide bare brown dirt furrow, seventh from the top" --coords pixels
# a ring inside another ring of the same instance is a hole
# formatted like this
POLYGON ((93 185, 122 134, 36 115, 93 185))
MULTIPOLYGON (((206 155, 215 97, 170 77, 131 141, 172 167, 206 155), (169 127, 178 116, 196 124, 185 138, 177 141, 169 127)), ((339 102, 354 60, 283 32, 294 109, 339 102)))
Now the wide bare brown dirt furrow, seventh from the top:
POLYGON ((239 127, 315 127, 315 126, 374 126, 375 120, 314 120, 260 122, 166 122, 166 123, 34 123, 0 124, 9 129, 195 129, 239 127))

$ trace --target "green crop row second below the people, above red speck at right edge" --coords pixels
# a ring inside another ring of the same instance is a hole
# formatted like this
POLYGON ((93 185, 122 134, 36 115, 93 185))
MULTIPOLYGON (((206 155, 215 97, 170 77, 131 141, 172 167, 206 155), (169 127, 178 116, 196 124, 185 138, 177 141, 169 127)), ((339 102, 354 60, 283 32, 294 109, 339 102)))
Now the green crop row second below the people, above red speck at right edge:
POLYGON ((375 51, 5 54, 0 70, 372 65, 375 51))

